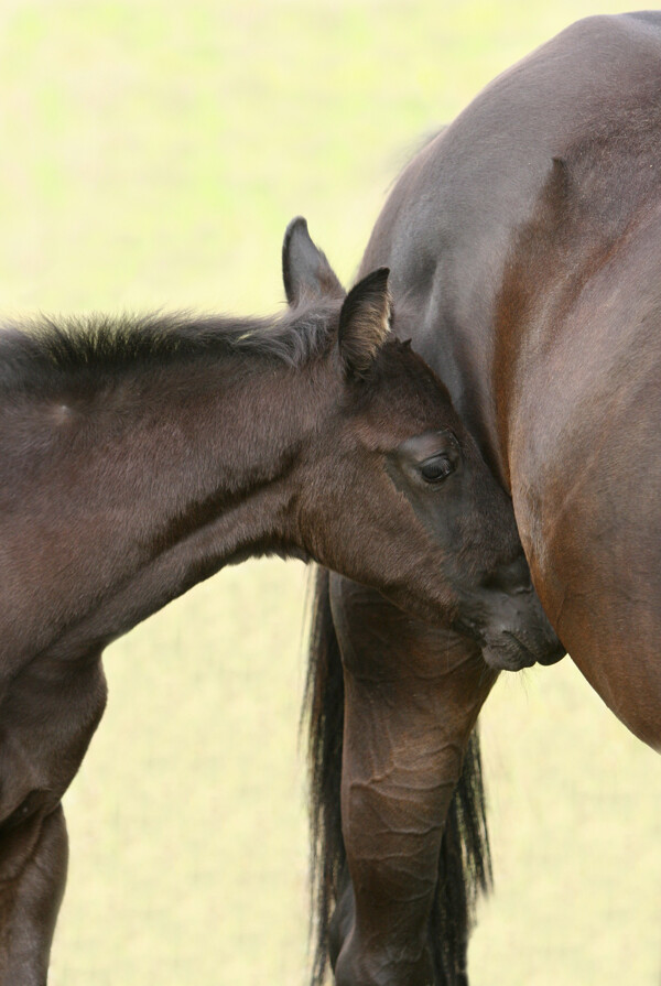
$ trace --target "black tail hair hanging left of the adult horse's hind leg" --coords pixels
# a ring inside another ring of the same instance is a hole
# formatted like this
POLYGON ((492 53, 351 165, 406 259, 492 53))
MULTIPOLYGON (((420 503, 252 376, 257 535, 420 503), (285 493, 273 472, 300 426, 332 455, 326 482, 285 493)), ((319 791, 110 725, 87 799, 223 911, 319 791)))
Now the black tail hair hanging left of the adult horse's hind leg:
POLYGON ((344 678, 328 583, 328 571, 317 568, 302 715, 302 719, 307 722, 311 934, 316 932, 312 986, 324 983, 328 963, 328 925, 346 859, 339 806, 344 678))

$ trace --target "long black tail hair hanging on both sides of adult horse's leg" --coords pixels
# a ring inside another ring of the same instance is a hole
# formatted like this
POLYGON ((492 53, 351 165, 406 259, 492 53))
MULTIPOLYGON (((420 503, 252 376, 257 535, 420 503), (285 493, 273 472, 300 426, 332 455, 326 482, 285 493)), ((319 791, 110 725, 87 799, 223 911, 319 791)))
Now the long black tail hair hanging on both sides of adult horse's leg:
MULTIPOLYGON (((328 593, 319 568, 313 588, 310 663, 303 705, 308 734, 311 896, 314 960, 312 986, 322 986, 328 963, 328 923, 346 859, 339 787, 344 726, 342 660, 328 593)), ((491 886, 491 856, 474 732, 449 805, 438 858, 438 881, 429 924, 433 986, 468 986, 466 953, 480 891, 491 886)))

